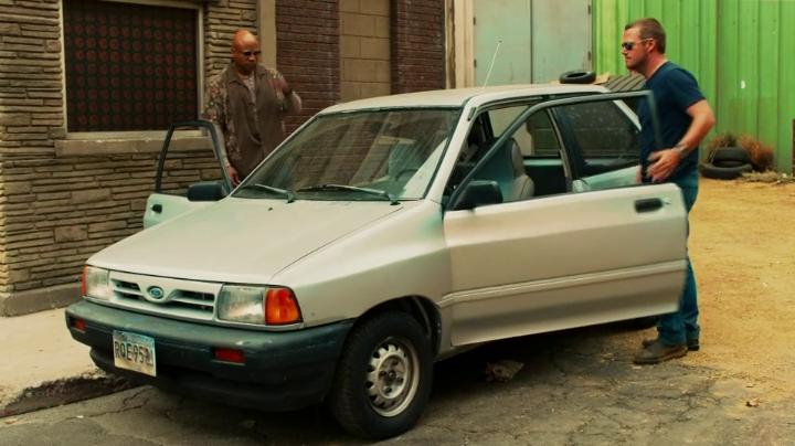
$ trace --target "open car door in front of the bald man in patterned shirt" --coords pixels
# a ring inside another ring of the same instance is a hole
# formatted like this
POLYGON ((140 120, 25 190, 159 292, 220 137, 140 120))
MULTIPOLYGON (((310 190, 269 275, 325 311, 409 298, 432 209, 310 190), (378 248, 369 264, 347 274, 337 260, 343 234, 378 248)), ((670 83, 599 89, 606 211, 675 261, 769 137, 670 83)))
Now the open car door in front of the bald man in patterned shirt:
POLYGON ((229 194, 223 136, 208 120, 172 124, 158 158, 155 192, 147 199, 144 229, 194 211, 229 194), (200 129, 204 137, 174 140, 177 130, 200 129))

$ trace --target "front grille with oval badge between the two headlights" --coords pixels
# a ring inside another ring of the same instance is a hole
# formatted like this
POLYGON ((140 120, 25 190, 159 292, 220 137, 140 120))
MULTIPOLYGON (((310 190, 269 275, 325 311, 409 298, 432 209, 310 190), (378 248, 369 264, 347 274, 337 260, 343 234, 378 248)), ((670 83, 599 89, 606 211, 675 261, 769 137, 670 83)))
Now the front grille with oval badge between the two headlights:
POLYGON ((172 315, 181 318, 212 319, 221 284, 110 273, 112 301, 120 307, 172 315))

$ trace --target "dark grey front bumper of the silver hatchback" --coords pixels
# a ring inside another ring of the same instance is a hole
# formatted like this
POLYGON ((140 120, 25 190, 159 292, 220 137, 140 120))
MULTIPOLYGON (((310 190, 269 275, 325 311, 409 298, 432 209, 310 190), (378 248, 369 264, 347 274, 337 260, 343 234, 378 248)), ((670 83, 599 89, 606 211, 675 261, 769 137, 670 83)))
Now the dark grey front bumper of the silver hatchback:
POLYGON ((328 392, 353 321, 297 331, 254 331, 141 315, 80 301, 66 309, 72 337, 100 369, 191 396, 265 411, 319 403, 328 392), (73 327, 82 319, 85 330, 73 327), (117 369, 113 331, 155 338, 157 376, 117 369), (218 361, 213 348, 243 350, 245 364, 218 361))

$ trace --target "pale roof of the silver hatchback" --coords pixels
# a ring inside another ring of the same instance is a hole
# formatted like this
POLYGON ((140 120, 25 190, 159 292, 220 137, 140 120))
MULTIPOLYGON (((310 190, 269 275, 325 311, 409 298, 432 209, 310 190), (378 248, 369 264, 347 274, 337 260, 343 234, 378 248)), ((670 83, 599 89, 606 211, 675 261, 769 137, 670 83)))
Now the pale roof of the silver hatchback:
POLYGON ((495 99, 510 98, 512 96, 521 97, 594 92, 605 93, 608 91, 603 86, 590 84, 524 84, 434 89, 351 100, 344 104, 332 105, 321 113, 352 112, 371 108, 460 107, 470 99, 479 99, 478 103, 485 103, 495 99))

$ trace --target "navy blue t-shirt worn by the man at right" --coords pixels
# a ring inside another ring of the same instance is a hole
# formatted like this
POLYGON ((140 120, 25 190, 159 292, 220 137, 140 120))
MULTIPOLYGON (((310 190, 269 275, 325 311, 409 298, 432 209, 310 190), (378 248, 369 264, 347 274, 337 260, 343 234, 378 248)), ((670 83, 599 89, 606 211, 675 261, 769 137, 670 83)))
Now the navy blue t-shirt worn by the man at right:
MULTIPOLYGON (((676 146, 690 128, 692 118, 687 109, 703 99, 698 82, 687 70, 671 63, 664 63, 655 74, 646 79, 646 88, 651 91, 657 105, 657 118, 660 125, 662 147, 655 142, 654 126, 648 104, 645 99, 638 103, 638 119, 640 120, 640 167, 644 182, 651 181, 646 178, 648 157, 651 152, 676 146)), ((679 166, 666 181, 678 182, 692 176, 698 176, 698 147, 679 162, 679 166)))

